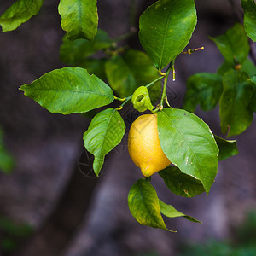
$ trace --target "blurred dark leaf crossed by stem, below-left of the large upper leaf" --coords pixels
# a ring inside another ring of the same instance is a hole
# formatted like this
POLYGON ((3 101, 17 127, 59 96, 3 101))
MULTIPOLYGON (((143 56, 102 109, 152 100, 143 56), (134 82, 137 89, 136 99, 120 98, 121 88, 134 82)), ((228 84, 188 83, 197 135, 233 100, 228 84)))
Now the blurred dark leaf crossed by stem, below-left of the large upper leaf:
MULTIPOLYGON (((151 61, 148 55, 143 51, 129 49, 125 52, 123 58, 136 80, 137 87, 149 84, 154 81, 154 79, 159 78, 159 72, 154 67, 153 61, 151 61)), ((160 81, 156 82, 148 89, 152 102, 159 100, 161 90, 160 81)))

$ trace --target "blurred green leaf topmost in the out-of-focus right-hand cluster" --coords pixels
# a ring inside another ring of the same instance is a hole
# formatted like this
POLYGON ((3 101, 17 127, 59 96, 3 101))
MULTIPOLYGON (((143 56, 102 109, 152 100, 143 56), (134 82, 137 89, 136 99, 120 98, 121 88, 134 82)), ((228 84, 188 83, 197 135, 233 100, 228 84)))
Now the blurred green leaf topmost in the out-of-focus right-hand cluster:
POLYGON ((224 35, 212 38, 224 59, 231 65, 242 63, 247 59, 250 47, 247 34, 240 23, 230 28, 224 35))

